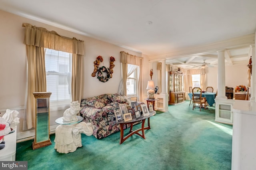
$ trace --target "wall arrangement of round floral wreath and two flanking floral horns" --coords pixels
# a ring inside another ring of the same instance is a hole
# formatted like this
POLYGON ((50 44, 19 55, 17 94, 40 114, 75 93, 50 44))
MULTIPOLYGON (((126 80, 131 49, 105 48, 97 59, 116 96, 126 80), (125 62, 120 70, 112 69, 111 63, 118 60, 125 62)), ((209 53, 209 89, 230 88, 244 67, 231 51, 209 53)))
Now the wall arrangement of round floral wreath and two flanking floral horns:
POLYGON ((112 74, 114 73, 113 68, 115 67, 114 65, 114 61, 116 61, 116 59, 114 57, 110 57, 110 68, 102 66, 99 68, 100 62, 103 61, 102 56, 98 56, 96 58, 96 60, 93 62, 94 63, 94 71, 92 72, 92 77, 96 76, 97 73, 97 79, 99 79, 99 81, 101 82, 107 82, 109 79, 112 78, 112 74), (103 73, 107 73, 107 75, 104 77, 103 73))

